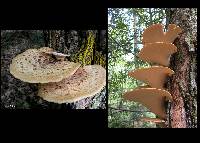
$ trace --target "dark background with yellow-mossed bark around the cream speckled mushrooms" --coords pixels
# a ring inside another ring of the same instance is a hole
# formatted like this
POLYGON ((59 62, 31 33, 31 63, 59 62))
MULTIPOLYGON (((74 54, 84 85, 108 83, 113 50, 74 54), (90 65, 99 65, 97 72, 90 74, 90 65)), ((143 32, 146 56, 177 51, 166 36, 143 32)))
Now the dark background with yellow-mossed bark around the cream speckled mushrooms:
POLYGON ((98 64, 106 68, 106 30, 2 30, 1 109, 105 109, 105 88, 94 97, 56 104, 36 96, 37 84, 23 82, 10 74, 9 65, 16 55, 44 46, 69 54, 68 60, 82 66, 98 64))

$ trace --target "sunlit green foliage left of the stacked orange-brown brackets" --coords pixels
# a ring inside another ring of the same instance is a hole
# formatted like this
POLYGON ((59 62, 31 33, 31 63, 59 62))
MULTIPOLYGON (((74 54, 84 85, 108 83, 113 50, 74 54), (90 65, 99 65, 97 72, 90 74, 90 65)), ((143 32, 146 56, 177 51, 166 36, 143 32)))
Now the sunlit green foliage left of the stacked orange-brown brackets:
POLYGON ((155 124, 139 121, 155 117, 140 103, 125 102, 126 91, 144 85, 128 76, 128 72, 150 66, 138 59, 142 48, 141 34, 153 23, 165 23, 165 10, 152 8, 108 9, 108 127, 147 128, 155 124), (116 110, 119 109, 119 110, 116 110), (135 112, 134 112, 135 111, 135 112), (139 111, 139 112, 137 112, 139 111))

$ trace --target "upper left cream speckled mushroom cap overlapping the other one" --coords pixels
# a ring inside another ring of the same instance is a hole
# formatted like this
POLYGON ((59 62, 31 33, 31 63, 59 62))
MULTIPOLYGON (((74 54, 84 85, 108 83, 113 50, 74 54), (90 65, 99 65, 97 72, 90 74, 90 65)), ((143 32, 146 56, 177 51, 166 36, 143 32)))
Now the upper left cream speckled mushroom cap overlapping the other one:
POLYGON ((48 83, 59 82, 73 75, 80 67, 79 63, 57 61, 44 53, 52 51, 48 47, 26 50, 12 60, 10 73, 25 82, 48 83))

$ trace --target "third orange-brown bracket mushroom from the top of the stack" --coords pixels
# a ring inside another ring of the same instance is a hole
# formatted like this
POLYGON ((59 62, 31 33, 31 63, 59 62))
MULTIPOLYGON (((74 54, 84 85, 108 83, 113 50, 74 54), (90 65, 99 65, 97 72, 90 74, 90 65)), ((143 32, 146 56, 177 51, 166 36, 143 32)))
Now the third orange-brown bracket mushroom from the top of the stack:
POLYGON ((166 77, 174 74, 170 68, 163 66, 153 66, 150 68, 142 68, 128 73, 129 76, 134 77, 149 84, 153 88, 163 88, 166 77))

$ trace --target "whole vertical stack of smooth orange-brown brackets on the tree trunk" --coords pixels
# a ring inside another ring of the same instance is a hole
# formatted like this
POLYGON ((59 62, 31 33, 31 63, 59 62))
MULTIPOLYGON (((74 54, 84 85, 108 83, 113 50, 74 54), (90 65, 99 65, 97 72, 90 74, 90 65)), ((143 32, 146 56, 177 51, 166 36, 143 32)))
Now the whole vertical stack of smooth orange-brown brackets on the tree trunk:
POLYGON ((153 24, 143 33, 143 48, 139 58, 156 65, 130 71, 129 76, 147 83, 147 86, 138 87, 123 95, 125 100, 140 102, 159 117, 144 118, 143 121, 162 123, 166 119, 164 103, 166 100, 172 101, 172 96, 164 89, 164 83, 167 76, 174 74, 174 71, 167 66, 170 56, 177 52, 177 47, 172 43, 181 31, 175 24, 169 24, 167 32, 163 32, 161 24, 153 24))

